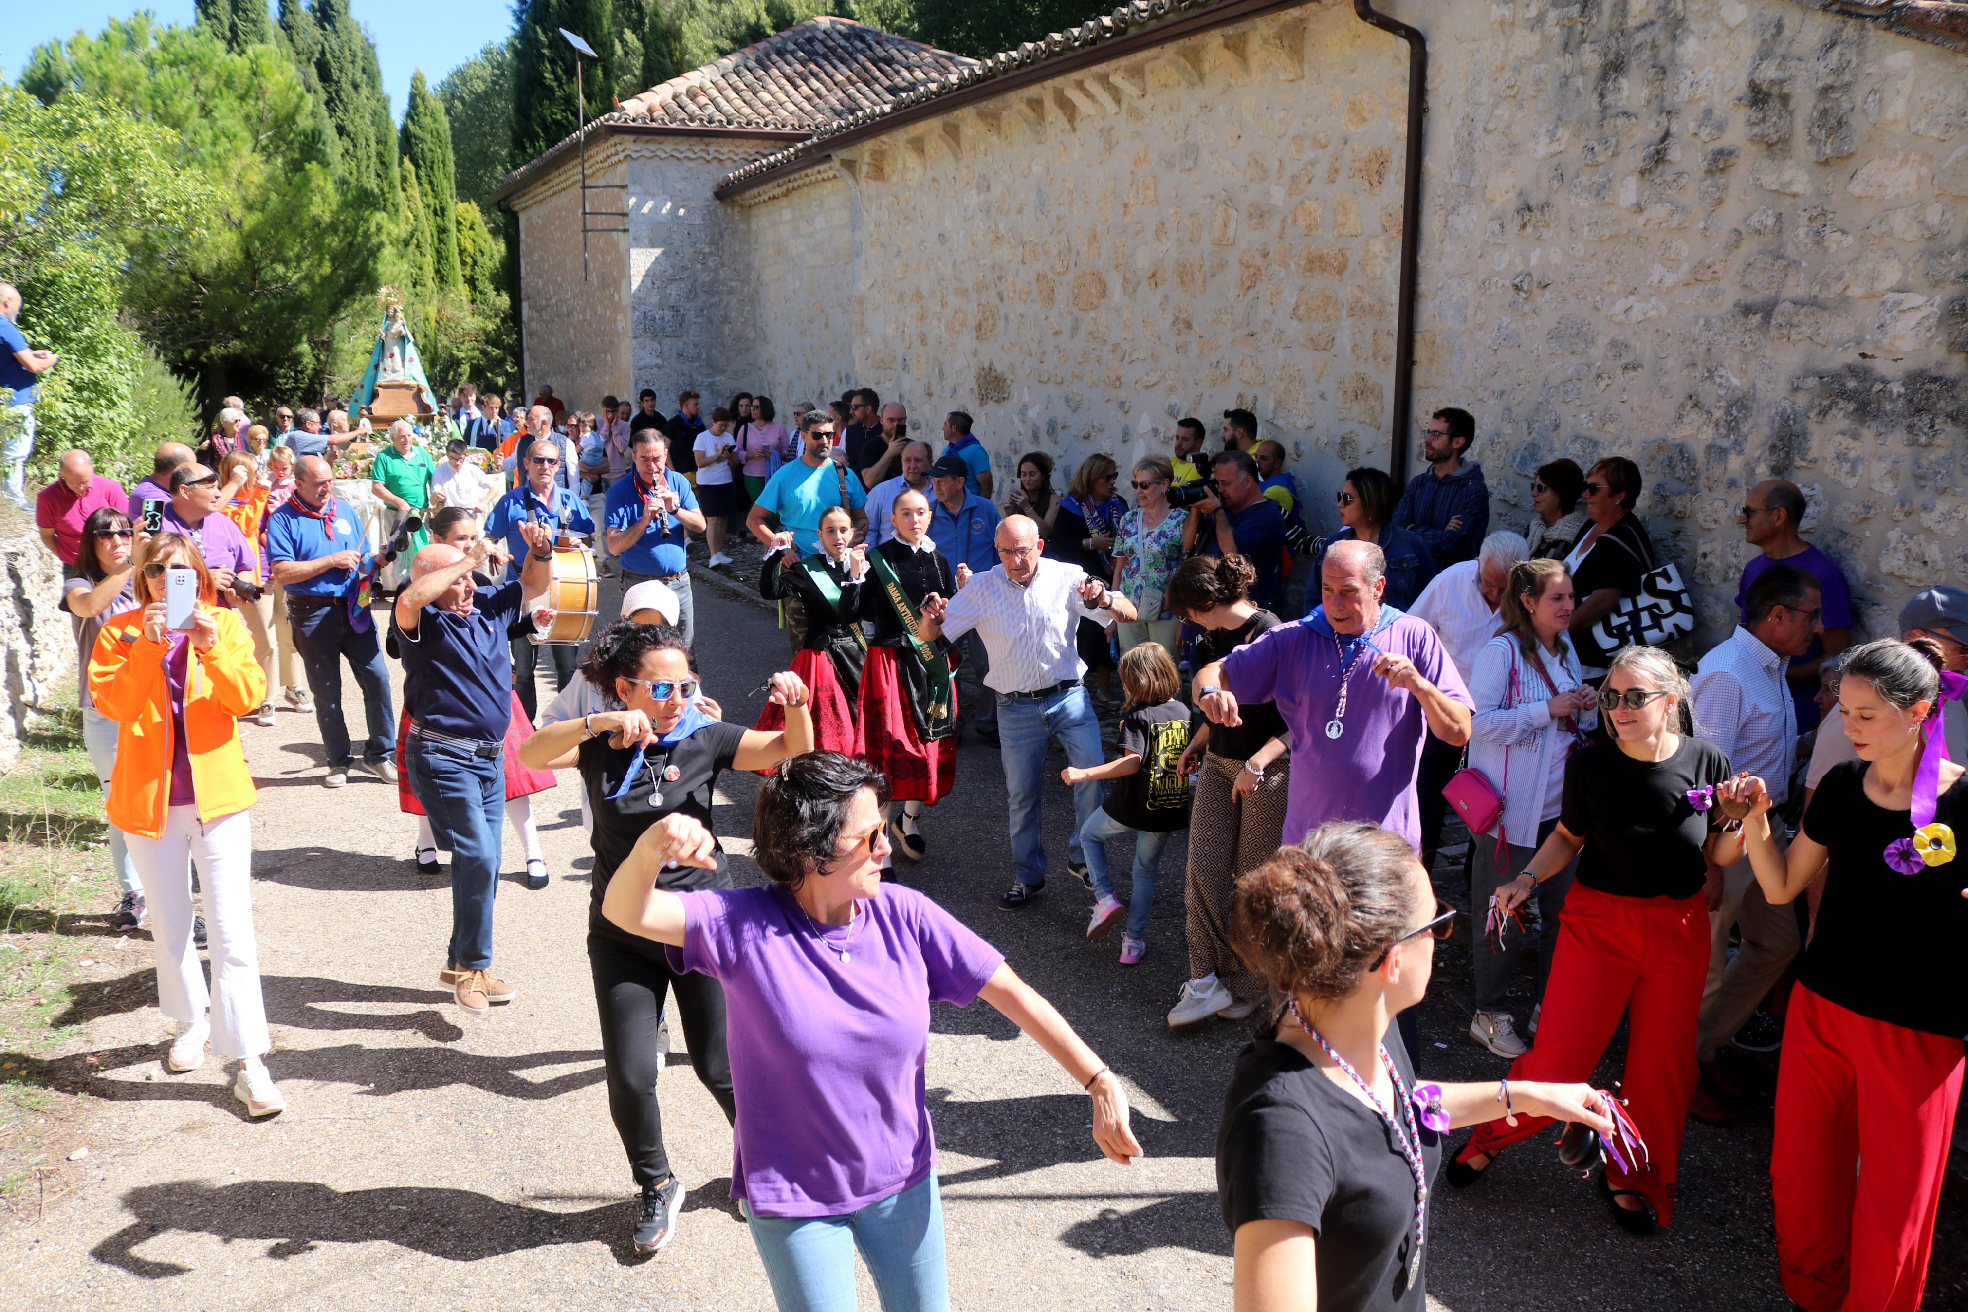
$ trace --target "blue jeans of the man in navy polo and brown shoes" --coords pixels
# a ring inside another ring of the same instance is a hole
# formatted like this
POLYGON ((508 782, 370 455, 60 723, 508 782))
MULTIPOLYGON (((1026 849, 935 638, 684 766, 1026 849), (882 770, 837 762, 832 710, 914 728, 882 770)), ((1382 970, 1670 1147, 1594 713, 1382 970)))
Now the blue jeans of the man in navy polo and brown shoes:
POLYGON ((445 964, 484 970, 492 964, 492 899, 506 838, 506 759, 476 757, 411 732, 405 765, 409 791, 431 816, 439 846, 451 848, 451 948, 445 964))

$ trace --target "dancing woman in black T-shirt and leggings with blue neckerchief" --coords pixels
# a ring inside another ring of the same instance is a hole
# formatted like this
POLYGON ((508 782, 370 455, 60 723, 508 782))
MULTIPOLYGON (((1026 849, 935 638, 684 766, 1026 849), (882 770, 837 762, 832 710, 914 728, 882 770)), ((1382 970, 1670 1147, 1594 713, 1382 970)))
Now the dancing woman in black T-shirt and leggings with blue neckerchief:
MULTIPOLYGON (((771 677, 769 698, 785 730, 768 734, 712 720, 699 706, 701 685, 691 651, 673 629, 622 620, 588 651, 583 677, 612 702, 579 720, 549 724, 525 740, 520 759, 535 769, 579 769, 594 814, 592 905, 588 907, 588 966, 602 1021, 602 1062, 608 1068, 608 1111, 642 1190, 630 1241, 649 1255, 669 1243, 683 1208, 683 1186, 663 1151, 663 1115, 655 1078, 663 1052, 655 1046, 663 999, 677 995, 677 1017, 691 1048, 691 1066, 710 1096, 736 1115, 732 1070, 724 1050, 724 989, 708 976, 673 970, 663 948, 602 919, 602 897, 644 834, 671 820, 705 832, 701 860, 651 867, 663 889, 728 889, 724 854, 708 836, 710 795, 724 769, 771 769, 813 749, 807 685, 799 675, 771 677)), ((647 887, 647 879, 644 879, 647 887)))

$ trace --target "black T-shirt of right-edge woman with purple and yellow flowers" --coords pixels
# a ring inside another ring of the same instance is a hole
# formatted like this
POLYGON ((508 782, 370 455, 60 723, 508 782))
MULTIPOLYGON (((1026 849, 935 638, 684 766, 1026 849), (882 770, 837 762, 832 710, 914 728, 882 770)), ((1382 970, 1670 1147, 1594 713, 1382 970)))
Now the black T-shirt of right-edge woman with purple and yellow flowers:
MULTIPOLYGON (((1948 1039, 1968 1037, 1968 897, 1958 856, 1901 875, 1885 846, 1913 836, 1905 810, 1866 797, 1866 761, 1840 761, 1818 781, 1805 836, 1826 848, 1818 926, 1805 948, 1803 982, 1818 997, 1874 1021, 1948 1039)), ((1935 820, 1968 838, 1968 775, 1935 801, 1935 820)))

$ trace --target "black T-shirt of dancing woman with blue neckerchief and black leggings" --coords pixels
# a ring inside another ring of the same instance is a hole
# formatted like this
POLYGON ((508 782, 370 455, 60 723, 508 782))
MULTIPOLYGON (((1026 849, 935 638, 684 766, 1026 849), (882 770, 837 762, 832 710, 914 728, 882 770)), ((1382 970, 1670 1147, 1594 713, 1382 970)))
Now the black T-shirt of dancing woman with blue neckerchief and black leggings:
MULTIPOLYGON (((588 791, 588 810, 594 814, 594 834, 588 842, 594 846, 596 915, 608 881, 628 860, 644 830, 679 812, 710 828, 710 791, 716 787, 718 771, 730 769, 742 740, 744 726, 716 722, 671 747, 649 745, 630 791, 616 801, 608 801, 608 795, 622 787, 622 775, 634 763, 636 749, 610 745, 608 734, 596 734, 581 744, 581 787, 588 791)), ((716 869, 677 865, 659 873, 655 883, 663 889, 728 889, 730 875, 724 873, 720 850, 716 869)))

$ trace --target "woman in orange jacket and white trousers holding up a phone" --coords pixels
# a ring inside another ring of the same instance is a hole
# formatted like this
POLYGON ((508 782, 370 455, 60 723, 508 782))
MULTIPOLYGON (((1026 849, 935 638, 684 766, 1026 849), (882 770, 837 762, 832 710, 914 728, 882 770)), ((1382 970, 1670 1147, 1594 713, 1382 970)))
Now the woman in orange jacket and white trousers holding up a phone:
POLYGON ((193 1072, 211 1041, 216 1056, 238 1062, 232 1096, 246 1115, 274 1115, 287 1103, 262 1060, 272 1039, 252 932, 256 793, 238 732, 238 718, 266 700, 266 675, 189 537, 161 533, 138 547, 136 600, 140 610, 108 618, 96 635, 89 696, 122 726, 108 822, 128 836, 150 907, 157 1005, 179 1025, 163 1064, 193 1072), (173 600, 187 594, 189 604, 173 600), (211 993, 191 946, 193 860, 211 917, 211 993))

